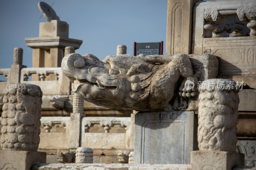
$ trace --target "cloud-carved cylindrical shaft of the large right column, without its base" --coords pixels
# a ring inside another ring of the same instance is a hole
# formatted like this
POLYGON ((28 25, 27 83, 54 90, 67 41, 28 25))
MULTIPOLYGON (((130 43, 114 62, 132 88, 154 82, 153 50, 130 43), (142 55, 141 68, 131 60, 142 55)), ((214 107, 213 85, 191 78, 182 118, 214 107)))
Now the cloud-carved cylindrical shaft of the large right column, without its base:
POLYGON ((216 78, 202 82, 198 107, 199 150, 236 152, 238 91, 233 80, 216 78))

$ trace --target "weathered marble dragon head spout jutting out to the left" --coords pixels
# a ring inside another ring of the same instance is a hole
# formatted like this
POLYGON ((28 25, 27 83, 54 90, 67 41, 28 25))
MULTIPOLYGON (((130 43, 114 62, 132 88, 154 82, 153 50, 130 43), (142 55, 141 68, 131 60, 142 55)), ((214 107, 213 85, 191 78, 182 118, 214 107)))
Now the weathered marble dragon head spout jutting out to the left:
POLYGON ((181 77, 180 96, 191 98, 185 81, 197 84, 201 72, 193 73, 188 55, 117 55, 100 61, 92 54, 66 55, 63 73, 81 98, 116 109, 163 109, 169 105, 181 77))

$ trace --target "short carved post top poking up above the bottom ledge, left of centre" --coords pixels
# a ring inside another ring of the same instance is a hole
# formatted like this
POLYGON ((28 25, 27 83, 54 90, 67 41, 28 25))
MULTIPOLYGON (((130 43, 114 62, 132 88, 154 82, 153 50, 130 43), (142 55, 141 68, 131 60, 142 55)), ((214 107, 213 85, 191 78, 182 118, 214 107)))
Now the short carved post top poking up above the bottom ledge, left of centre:
POLYGON ((77 148, 76 163, 93 163, 93 150, 86 147, 77 148))

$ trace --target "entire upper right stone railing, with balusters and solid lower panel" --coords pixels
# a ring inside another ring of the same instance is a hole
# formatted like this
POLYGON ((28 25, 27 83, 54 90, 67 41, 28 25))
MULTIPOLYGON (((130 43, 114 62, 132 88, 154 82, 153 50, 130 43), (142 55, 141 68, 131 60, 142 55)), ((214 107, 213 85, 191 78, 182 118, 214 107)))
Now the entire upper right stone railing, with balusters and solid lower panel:
POLYGON ((191 53, 219 56, 221 76, 253 75, 255 29, 256 0, 197 2, 191 53))

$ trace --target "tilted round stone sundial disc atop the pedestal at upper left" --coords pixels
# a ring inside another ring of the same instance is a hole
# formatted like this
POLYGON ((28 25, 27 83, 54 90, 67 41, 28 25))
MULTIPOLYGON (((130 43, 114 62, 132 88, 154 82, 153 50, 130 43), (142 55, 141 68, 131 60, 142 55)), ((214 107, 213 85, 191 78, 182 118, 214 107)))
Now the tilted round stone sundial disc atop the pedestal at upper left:
POLYGON ((38 8, 48 22, 51 22, 52 20, 60 20, 60 17, 56 14, 52 7, 45 2, 39 2, 38 8))

